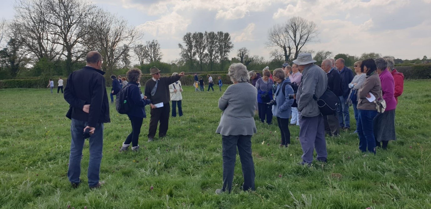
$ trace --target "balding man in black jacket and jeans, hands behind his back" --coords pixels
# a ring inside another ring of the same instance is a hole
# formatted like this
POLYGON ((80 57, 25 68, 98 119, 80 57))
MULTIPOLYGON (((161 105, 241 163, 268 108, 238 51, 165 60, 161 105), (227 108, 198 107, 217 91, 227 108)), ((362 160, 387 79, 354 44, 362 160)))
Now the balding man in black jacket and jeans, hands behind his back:
POLYGON ((87 65, 81 70, 72 72, 64 89, 64 99, 70 104, 66 117, 72 120, 70 129, 69 170, 67 176, 72 187, 81 182, 81 158, 84 146, 84 131, 90 130, 90 160, 88 163, 88 186, 98 188, 100 162, 103 148, 103 123, 109 123, 109 101, 106 93, 105 72, 102 69, 103 58, 99 52, 87 54, 87 65))

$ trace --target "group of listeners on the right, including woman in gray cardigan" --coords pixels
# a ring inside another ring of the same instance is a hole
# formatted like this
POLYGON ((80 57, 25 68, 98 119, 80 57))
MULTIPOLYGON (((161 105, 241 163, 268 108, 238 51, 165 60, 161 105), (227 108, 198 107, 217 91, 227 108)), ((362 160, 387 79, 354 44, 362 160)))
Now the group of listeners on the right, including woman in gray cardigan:
POLYGON ((388 141, 396 139, 395 108, 397 97, 403 92, 404 77, 394 69, 393 58, 357 61, 355 77, 343 59, 324 60, 321 66, 315 62, 311 54, 300 53, 292 67, 286 62, 272 75, 268 69, 263 69, 263 77, 253 71, 248 74, 240 63, 230 66, 228 75, 234 85, 219 99, 223 113, 216 132, 222 135, 223 187, 217 189, 216 194, 231 191, 236 149, 244 176, 242 189, 255 189, 251 137, 256 133, 253 119, 256 106, 261 122, 266 119, 271 124, 272 117, 277 117, 283 147, 290 144, 289 118, 290 124, 299 123, 303 150, 300 165, 311 166, 314 150, 317 161, 327 162, 325 132, 336 136, 339 129, 350 129, 351 105, 362 152, 375 154, 376 147, 386 149, 388 141), (277 85, 272 87, 274 82, 277 85), (323 116, 317 100, 327 89, 338 96, 340 105, 334 114, 323 116))

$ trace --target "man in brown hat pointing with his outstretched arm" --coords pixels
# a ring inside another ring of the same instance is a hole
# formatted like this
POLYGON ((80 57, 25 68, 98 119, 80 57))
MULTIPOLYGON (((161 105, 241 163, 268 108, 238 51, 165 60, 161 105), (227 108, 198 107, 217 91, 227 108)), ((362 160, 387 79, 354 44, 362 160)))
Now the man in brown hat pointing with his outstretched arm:
POLYGON ((160 70, 156 67, 152 67, 150 68, 150 74, 153 77, 145 83, 144 92, 147 99, 151 101, 148 142, 153 141, 159 121, 159 137, 166 136, 168 132, 169 113, 171 112, 171 106, 169 105, 169 101, 171 100, 169 85, 180 80, 180 77, 184 76, 184 72, 170 77, 160 77, 160 70), (157 104, 157 106, 155 104, 157 104))

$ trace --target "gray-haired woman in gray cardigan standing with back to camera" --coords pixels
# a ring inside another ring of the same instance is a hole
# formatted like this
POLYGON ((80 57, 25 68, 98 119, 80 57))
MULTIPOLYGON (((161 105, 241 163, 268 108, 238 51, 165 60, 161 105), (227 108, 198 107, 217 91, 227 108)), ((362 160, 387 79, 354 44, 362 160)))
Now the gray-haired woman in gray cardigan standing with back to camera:
POLYGON ((222 135, 223 154, 223 187, 217 189, 216 194, 232 190, 237 147, 244 176, 243 190, 255 190, 251 136, 256 133, 253 116, 257 90, 248 83, 249 73, 241 63, 232 64, 228 76, 234 84, 229 86, 219 99, 219 108, 223 113, 215 131, 222 135))

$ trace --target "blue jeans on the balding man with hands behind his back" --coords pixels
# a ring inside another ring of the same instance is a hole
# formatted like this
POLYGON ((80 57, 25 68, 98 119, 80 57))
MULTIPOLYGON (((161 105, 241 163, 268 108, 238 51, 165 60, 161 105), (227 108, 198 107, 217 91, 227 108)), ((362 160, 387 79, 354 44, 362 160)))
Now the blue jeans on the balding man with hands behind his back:
MULTIPOLYGON (((75 120, 72 118, 70 132, 72 133, 72 142, 70 145, 69 170, 67 177, 71 183, 79 184, 81 175, 82 148, 84 147, 84 128, 87 126, 86 121, 75 120)), ((103 148, 103 123, 97 123, 94 134, 90 136, 90 160, 88 162, 88 186, 95 187, 99 183, 100 162, 102 161, 103 148)))

